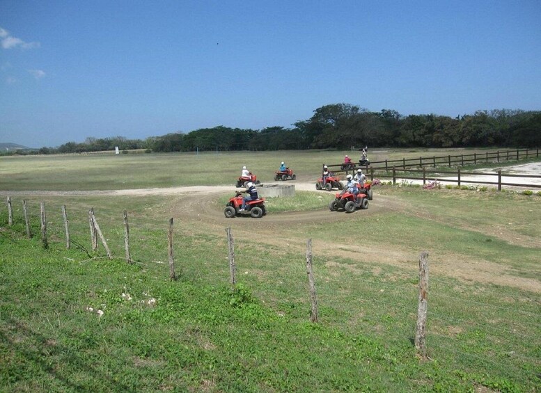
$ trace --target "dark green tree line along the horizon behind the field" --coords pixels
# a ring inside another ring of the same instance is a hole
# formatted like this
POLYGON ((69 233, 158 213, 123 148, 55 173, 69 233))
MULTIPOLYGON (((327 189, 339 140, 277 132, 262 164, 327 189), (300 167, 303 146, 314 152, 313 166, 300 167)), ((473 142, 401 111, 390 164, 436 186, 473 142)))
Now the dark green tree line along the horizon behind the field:
POLYGON ((173 132, 144 140, 122 136, 86 138, 59 147, 42 147, 40 154, 144 149, 148 152, 205 150, 306 150, 352 147, 539 147, 541 111, 494 109, 456 118, 441 115, 401 115, 352 104, 329 104, 291 128, 239 129, 224 126, 173 132))

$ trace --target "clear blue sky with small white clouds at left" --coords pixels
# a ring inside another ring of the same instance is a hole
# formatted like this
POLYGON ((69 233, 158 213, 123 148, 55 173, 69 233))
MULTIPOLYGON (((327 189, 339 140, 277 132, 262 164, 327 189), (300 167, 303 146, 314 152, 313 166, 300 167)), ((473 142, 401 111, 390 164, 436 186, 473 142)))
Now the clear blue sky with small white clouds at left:
POLYGON ((541 1, 0 0, 0 142, 541 110, 541 1))

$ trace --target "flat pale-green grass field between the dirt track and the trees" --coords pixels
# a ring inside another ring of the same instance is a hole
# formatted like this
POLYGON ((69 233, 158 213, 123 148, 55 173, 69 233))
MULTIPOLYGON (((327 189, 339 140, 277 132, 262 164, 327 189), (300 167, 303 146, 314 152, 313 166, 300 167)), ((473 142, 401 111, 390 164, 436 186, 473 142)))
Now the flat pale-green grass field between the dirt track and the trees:
MULTIPOLYGON (((496 149, 373 150, 371 161, 473 154, 496 149)), ((297 178, 315 181, 324 163, 340 164, 345 154, 354 161, 359 152, 327 150, 281 152, 202 152, 171 154, 73 154, 58 156, 0 157, 1 190, 118 190, 148 187, 235 184, 242 166, 262 182, 274 180, 281 161, 297 178)), ((503 165, 503 164, 501 164, 503 165)))

